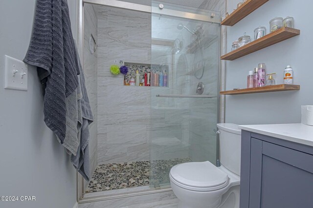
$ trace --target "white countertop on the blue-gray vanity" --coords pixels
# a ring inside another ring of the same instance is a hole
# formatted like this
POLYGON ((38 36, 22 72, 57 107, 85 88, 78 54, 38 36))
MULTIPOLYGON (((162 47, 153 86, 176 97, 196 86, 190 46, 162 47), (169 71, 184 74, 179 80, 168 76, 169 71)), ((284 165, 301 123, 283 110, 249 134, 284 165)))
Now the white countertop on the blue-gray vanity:
POLYGON ((239 128, 291 142, 313 146, 313 126, 304 124, 239 125, 239 128))

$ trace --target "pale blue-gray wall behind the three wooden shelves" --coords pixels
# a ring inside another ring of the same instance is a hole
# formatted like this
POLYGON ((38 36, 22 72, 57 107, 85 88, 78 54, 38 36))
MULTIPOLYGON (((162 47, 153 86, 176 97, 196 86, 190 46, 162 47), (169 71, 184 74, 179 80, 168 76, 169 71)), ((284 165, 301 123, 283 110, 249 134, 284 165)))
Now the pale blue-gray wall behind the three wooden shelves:
MULTIPOLYGON (((228 11, 232 11, 237 0, 228 0, 228 11)), ((284 0, 268 1, 248 17, 227 28, 227 51, 231 42, 244 32, 253 37, 253 30, 259 25, 267 27, 274 17, 294 18, 295 28, 301 34, 287 41, 277 43, 253 54, 227 61, 226 89, 246 88, 246 76, 258 63, 265 62, 266 73, 276 72, 276 83, 283 83, 283 71, 286 65, 294 70, 294 84, 300 84, 299 91, 269 92, 226 96, 226 122, 236 124, 277 124, 300 123, 301 105, 313 104, 312 33, 310 27, 313 2, 284 0)))

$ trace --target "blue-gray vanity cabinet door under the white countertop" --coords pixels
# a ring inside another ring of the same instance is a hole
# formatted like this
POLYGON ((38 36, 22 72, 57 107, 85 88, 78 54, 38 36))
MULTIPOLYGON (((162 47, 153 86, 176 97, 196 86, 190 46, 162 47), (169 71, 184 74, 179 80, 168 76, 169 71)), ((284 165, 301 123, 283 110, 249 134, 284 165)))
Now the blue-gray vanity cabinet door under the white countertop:
POLYGON ((313 155, 251 138, 249 208, 313 208, 313 155))

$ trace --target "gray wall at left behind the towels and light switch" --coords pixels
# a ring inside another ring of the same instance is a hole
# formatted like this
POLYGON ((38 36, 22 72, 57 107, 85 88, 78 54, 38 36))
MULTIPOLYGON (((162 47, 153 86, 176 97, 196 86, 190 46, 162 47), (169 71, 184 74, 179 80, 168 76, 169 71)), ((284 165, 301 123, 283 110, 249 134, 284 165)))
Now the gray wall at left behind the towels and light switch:
MULTIPOLYGON (((0 195, 36 196, 35 202, 0 202, 0 207, 72 208, 76 171, 44 123, 36 69, 28 67, 28 91, 4 89, 4 55, 24 58, 34 8, 35 0, 0 1, 0 195)), ((71 17, 75 9, 71 3, 71 17)))

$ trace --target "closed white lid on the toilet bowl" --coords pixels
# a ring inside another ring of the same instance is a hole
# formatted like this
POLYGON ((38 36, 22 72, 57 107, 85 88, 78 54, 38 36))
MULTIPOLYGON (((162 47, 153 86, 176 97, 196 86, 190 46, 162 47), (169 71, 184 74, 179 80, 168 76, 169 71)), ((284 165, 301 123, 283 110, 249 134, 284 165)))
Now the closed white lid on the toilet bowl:
POLYGON ((177 182, 190 187, 216 187, 228 179, 226 173, 208 161, 173 166, 170 174, 177 182))

